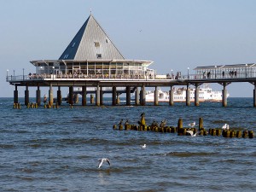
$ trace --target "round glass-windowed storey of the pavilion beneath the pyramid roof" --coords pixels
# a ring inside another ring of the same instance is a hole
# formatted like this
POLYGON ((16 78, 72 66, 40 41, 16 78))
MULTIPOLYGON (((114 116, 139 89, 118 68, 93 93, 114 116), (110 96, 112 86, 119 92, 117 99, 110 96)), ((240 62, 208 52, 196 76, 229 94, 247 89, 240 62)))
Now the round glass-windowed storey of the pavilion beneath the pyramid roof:
MULTIPOLYGON (((146 79, 152 61, 32 61, 38 75, 56 78, 146 79)), ((150 70, 154 77, 154 70, 150 70)))

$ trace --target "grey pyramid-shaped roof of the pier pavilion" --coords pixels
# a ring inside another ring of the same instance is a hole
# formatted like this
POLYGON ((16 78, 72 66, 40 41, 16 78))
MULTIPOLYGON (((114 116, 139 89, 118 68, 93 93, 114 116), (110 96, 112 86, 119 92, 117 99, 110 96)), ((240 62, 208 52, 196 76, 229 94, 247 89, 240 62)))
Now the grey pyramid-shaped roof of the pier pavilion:
POLYGON ((95 18, 90 15, 59 60, 124 60, 95 18))

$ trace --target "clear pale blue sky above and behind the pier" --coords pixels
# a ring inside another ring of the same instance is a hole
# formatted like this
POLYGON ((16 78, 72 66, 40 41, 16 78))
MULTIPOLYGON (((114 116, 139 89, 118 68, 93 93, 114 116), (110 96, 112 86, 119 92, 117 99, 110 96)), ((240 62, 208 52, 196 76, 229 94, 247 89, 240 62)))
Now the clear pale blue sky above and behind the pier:
MULTIPOLYGON (((254 0, 0 0, 0 97, 14 96, 9 75, 35 73, 30 61, 58 59, 92 15, 125 59, 154 61, 158 74, 256 62, 254 0)), ((222 90, 220 84, 211 84, 222 90)), ((227 86, 253 97, 253 84, 227 86)), ((18 88, 24 96, 24 88, 18 88)), ((30 96, 36 89, 29 88, 30 96)), ((42 89, 44 95, 49 89, 42 89)))

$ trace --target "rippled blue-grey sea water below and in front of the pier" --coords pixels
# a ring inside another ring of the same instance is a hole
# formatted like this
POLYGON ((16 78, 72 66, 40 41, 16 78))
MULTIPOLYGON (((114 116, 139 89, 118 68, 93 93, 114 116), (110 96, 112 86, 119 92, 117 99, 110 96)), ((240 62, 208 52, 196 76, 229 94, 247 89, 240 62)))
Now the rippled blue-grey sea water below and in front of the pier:
MULTIPOLYGON (((183 126, 199 118, 205 129, 256 132, 253 98, 154 106, 13 108, 0 98, 0 191, 255 191, 255 138, 177 136, 177 133, 113 130, 121 119, 183 126), (146 148, 141 146, 146 144, 146 148), (108 158, 98 168, 98 160, 108 158)), ((31 101, 32 102, 32 101, 31 101)))

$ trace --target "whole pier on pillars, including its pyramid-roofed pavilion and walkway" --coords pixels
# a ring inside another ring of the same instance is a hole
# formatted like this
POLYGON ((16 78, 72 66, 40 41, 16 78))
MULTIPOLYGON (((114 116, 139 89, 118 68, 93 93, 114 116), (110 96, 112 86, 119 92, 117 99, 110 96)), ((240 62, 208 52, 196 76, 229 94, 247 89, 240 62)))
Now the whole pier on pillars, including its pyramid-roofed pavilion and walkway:
POLYGON ((68 87, 68 102, 74 104, 74 96, 81 94, 82 105, 86 106, 87 94, 96 95, 96 106, 103 105, 104 93, 112 94, 112 105, 119 104, 119 95, 125 94, 126 105, 131 105, 131 93, 135 93, 135 105, 145 106, 146 90, 154 87, 154 105, 159 105, 158 90, 167 87, 170 98, 169 105, 174 105, 173 88, 186 86, 186 102, 189 106, 191 86, 195 86, 195 106, 199 106, 199 87, 201 84, 221 84, 222 104, 227 107, 227 87, 229 84, 242 82, 254 85, 253 107, 256 108, 256 64, 216 65, 195 67, 193 73, 181 75, 155 73, 149 68, 153 61, 125 60, 119 50, 108 38, 106 32, 90 15, 75 35, 67 49, 57 60, 31 61, 36 68, 35 73, 25 75, 9 75, 6 81, 15 86, 14 103, 19 102, 18 88, 25 90, 25 105, 29 104, 29 88, 37 87, 36 101, 41 105, 41 87, 49 87, 49 105, 54 103, 54 90, 57 88, 57 102, 61 105, 61 88, 68 87), (90 27, 89 27, 90 26, 90 27), (86 30, 85 30, 86 29, 86 30), (79 92, 74 88, 79 88, 79 92))

